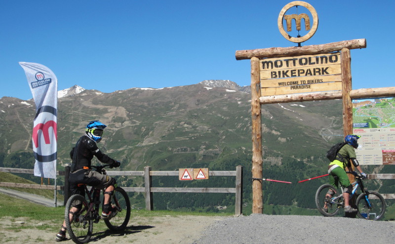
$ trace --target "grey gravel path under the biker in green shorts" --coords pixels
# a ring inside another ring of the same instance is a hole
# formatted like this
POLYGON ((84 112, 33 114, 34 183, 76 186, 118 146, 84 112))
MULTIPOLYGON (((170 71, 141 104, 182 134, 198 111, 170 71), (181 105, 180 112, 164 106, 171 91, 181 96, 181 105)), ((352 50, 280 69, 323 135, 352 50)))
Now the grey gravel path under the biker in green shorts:
POLYGON ((251 214, 206 227, 193 244, 394 244, 395 221, 251 214))

